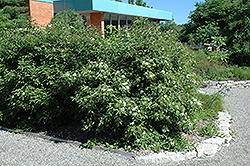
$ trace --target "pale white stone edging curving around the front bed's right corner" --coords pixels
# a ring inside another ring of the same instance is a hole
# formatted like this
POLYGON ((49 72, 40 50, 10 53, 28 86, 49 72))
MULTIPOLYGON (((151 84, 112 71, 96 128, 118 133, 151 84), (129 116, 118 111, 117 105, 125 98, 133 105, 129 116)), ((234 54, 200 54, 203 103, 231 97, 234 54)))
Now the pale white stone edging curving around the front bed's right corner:
POLYGON ((151 162, 176 162, 182 160, 189 160, 196 157, 209 156, 212 157, 222 146, 229 146, 232 136, 230 135, 230 119, 231 116, 227 112, 218 113, 219 133, 224 134, 225 137, 209 138, 199 143, 195 150, 191 152, 161 152, 145 156, 136 157, 137 160, 151 160, 151 162))

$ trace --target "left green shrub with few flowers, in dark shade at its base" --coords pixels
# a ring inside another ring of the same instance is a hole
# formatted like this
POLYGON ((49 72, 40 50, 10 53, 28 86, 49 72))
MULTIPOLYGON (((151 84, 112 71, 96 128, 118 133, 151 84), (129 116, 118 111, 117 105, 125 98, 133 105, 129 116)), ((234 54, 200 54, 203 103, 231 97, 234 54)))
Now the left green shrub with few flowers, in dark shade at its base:
POLYGON ((0 38, 4 124, 44 127, 74 119, 77 104, 70 97, 78 84, 72 75, 96 58, 102 39, 97 30, 58 25, 9 30, 0 38))

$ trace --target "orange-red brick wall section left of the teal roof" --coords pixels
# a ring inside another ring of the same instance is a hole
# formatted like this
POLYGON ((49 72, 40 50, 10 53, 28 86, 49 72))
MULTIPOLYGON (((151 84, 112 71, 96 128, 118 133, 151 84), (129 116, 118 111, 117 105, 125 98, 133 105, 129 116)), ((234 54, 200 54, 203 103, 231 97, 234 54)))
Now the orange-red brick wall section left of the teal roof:
POLYGON ((53 13, 53 3, 30 0, 30 16, 38 25, 50 23, 53 13))

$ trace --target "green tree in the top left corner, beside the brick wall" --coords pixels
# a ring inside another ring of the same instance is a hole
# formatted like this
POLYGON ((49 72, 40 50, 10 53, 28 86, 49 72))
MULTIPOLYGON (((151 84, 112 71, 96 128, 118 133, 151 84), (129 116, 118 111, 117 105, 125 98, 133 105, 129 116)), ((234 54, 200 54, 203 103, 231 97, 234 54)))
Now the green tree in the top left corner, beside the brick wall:
POLYGON ((0 14, 17 28, 30 26, 27 0, 0 0, 0 14))

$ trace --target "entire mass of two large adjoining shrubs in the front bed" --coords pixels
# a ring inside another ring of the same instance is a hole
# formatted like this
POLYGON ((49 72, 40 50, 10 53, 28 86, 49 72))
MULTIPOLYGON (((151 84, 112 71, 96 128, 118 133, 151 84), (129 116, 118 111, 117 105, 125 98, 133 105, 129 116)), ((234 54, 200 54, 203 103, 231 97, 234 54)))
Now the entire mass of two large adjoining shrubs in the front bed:
MULTIPOLYGON (((52 24, 0 36, 2 123, 81 121, 90 144, 183 150, 199 77, 171 31, 144 19, 103 39, 96 28, 52 24)), ((0 114, 1 115, 1 114, 0 114)))

